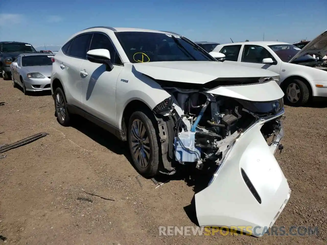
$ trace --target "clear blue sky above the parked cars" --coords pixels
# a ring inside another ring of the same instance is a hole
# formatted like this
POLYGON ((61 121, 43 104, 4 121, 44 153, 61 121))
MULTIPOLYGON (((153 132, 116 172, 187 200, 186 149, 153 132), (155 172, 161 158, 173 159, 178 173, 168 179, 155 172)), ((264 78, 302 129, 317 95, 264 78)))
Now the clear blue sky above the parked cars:
MULTIPOLYGON (((0 0, 1 1, 1 0, 0 0)), ((96 25, 180 33, 193 41, 311 40, 327 29, 327 0, 1 1, 0 39, 62 45, 96 25)))

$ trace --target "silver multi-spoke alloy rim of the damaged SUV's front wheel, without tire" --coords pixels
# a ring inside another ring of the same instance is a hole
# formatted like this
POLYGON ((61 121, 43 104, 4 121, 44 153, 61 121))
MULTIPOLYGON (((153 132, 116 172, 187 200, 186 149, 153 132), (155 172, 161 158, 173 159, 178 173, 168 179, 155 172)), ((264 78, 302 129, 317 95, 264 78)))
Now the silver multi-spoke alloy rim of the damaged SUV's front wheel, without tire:
POLYGON ((144 123, 135 119, 131 125, 130 140, 133 156, 141 168, 146 168, 150 161, 150 140, 144 123))

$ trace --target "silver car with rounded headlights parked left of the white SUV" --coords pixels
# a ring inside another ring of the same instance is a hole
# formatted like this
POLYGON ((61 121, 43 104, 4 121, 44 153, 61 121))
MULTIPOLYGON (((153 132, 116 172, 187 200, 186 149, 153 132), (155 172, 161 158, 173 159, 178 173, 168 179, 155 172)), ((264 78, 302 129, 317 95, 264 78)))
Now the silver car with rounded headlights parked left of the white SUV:
POLYGON ((54 55, 34 53, 21 54, 10 65, 12 85, 19 84, 27 91, 51 90, 50 76, 54 55))

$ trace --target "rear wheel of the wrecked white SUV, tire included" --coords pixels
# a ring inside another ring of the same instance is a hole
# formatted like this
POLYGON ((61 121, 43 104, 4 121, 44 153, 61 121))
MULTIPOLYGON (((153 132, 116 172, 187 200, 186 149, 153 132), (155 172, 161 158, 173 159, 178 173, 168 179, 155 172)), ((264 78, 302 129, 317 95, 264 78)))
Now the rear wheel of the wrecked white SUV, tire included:
POLYGON ((67 110, 66 97, 61 88, 57 88, 54 93, 55 98, 55 110, 58 122, 62 126, 69 126, 71 123, 70 115, 67 110))

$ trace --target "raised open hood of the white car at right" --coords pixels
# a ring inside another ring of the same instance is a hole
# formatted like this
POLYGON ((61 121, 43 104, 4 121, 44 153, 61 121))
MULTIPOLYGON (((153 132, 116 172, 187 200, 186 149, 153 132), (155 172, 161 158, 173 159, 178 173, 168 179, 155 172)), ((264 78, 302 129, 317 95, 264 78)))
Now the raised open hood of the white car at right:
POLYGON ((288 62, 304 55, 321 55, 324 57, 327 53, 327 30, 317 36, 314 40, 305 45, 293 58, 288 62))

